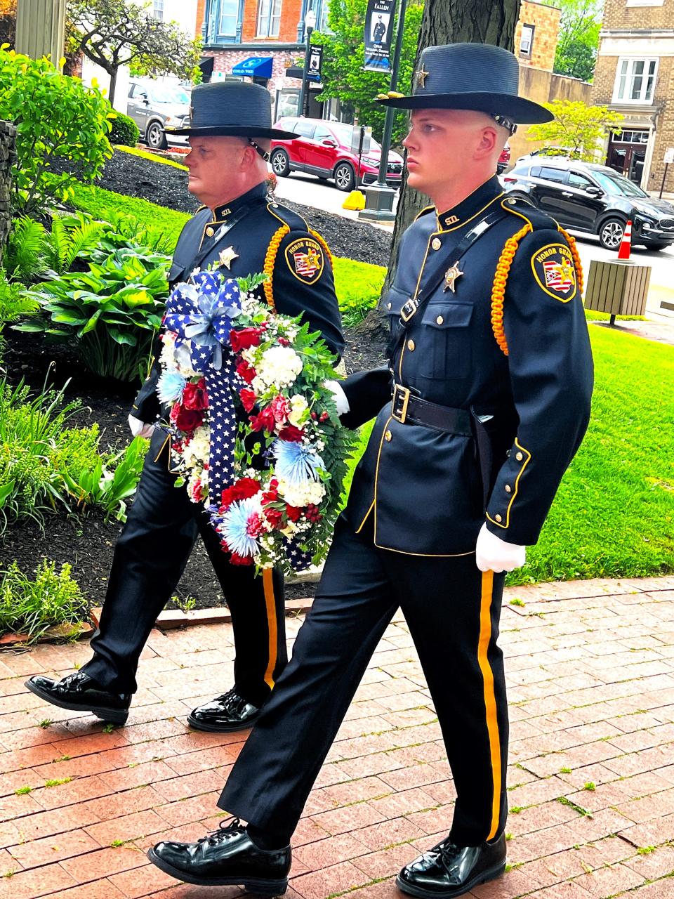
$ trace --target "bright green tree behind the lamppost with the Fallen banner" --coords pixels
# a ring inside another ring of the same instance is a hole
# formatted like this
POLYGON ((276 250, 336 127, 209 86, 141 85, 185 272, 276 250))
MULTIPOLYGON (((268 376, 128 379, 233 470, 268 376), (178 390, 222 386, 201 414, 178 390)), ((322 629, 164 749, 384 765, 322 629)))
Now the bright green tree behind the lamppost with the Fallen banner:
MULTIPOLYGON (((365 13, 367 0, 330 0, 328 25, 333 34, 314 31, 311 42, 324 46, 323 83, 319 100, 338 98, 343 105, 368 125, 376 138, 384 130, 386 110, 377 103, 377 93, 390 89, 388 72, 366 72, 363 69, 365 47, 365 13)), ((422 4, 411 0, 405 13, 403 49, 398 71, 399 91, 407 91, 412 81, 412 60, 421 26, 422 4)), ((407 131, 404 114, 396 116, 394 142, 401 141, 407 131)))

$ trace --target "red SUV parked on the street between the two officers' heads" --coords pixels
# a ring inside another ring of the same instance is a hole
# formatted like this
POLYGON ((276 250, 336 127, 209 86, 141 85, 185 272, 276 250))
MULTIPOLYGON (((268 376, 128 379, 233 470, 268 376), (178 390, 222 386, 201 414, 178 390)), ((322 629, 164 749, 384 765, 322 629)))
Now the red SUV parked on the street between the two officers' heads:
MULTIPOLYGON (((333 178, 340 191, 352 191, 357 184, 377 181, 381 147, 372 138, 367 153, 360 157, 351 151, 353 125, 323 119, 280 119, 274 128, 294 131, 293 140, 272 140, 272 171, 285 177, 291 172, 333 178)), ((403 157, 393 150, 388 154, 386 183, 400 187, 403 157)))

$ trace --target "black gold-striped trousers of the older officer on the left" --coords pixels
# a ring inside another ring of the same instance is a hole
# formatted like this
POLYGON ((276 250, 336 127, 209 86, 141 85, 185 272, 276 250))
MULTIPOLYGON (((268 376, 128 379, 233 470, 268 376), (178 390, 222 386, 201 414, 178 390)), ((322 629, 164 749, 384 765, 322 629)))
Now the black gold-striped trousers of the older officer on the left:
POLYGON ((253 566, 227 561, 206 512, 184 487, 175 486, 170 461, 168 438, 156 430, 115 546, 91 643, 94 656, 82 670, 108 690, 137 690, 138 658, 200 534, 232 615, 235 688, 247 702, 262 706, 288 662, 283 575, 265 571, 256 577, 253 566))

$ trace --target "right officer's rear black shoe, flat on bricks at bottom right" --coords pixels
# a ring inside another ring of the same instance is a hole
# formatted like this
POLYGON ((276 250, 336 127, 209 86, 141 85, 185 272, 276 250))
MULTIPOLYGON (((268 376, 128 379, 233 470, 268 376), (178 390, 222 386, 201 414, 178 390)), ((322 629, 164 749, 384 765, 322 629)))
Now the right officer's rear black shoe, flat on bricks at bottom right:
POLYGON ((480 846, 455 846, 445 840, 405 865, 395 886, 422 899, 452 899, 505 871, 505 835, 480 846))

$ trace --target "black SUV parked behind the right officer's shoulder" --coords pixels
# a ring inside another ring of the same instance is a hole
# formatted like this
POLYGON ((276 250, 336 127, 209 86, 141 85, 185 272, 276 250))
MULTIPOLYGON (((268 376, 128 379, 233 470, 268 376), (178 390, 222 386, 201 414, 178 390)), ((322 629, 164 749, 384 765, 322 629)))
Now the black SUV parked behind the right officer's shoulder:
POLYGON ((503 176, 509 196, 528 200, 563 227, 599 236, 616 250, 632 221, 632 243, 664 250, 674 243, 674 205, 653 200, 640 187, 606 165, 563 157, 528 159, 503 176))

